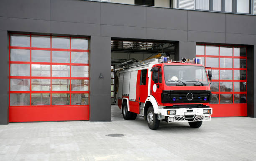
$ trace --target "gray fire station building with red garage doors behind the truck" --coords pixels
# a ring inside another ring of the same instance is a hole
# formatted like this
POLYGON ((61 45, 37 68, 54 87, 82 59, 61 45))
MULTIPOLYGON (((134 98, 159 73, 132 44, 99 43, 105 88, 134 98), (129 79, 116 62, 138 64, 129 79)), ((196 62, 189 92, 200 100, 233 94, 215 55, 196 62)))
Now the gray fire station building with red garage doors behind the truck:
POLYGON ((255 118, 255 48, 256 0, 2 0, 0 125, 111 121, 115 69, 161 56, 211 67, 212 117, 255 118))

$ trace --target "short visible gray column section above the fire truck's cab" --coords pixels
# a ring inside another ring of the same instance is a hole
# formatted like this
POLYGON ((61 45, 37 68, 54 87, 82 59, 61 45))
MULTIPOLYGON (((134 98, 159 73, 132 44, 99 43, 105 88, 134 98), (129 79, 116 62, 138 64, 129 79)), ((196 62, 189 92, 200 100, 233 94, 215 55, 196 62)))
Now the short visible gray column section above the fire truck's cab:
POLYGON ((175 43, 175 61, 182 58, 193 59, 196 57, 196 42, 179 41, 175 43))

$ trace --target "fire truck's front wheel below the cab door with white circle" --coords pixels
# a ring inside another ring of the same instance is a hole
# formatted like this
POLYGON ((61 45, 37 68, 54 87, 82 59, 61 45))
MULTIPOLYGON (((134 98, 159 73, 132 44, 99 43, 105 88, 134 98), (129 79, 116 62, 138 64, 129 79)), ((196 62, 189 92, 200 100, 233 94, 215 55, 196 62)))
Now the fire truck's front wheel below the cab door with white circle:
POLYGON ((152 106, 148 108, 147 122, 148 128, 150 128, 151 130, 156 130, 159 128, 160 120, 157 120, 157 114, 154 113, 154 109, 152 106))

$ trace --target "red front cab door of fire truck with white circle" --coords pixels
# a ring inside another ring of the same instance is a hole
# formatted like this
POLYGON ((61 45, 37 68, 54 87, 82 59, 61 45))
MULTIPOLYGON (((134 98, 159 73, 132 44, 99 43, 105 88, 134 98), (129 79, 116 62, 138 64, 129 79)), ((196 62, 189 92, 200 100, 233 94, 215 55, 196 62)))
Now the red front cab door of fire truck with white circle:
POLYGON ((162 68, 158 66, 158 71, 154 71, 154 72, 157 72, 158 79, 156 82, 154 82, 154 79, 153 79, 154 73, 152 73, 150 92, 151 92, 151 95, 155 97, 156 101, 158 103, 161 103, 161 94, 163 92, 162 68))

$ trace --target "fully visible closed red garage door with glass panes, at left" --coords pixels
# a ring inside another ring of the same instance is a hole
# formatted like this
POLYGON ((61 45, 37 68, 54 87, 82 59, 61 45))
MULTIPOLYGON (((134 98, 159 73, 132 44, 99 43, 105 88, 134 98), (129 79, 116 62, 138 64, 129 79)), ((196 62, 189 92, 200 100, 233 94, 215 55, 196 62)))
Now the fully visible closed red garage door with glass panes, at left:
POLYGON ((10 122, 89 120, 89 40, 10 34, 10 122))

